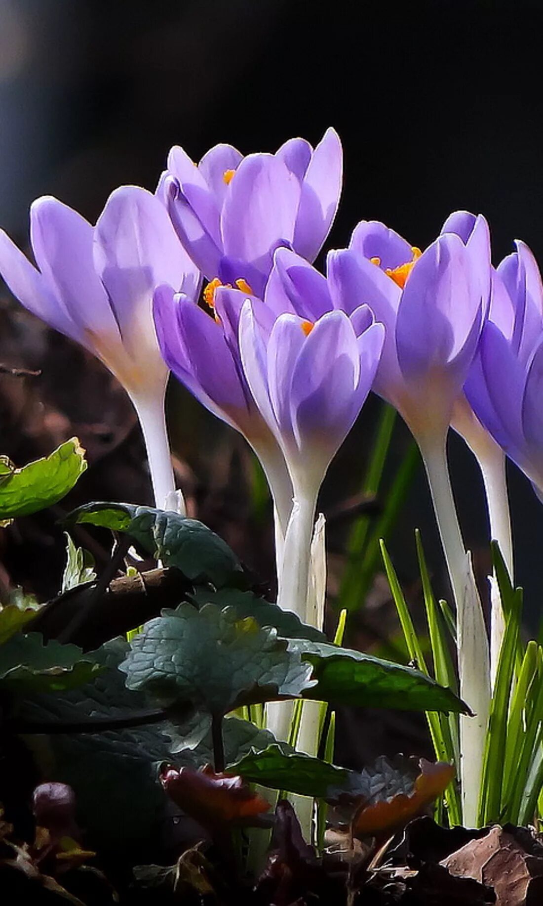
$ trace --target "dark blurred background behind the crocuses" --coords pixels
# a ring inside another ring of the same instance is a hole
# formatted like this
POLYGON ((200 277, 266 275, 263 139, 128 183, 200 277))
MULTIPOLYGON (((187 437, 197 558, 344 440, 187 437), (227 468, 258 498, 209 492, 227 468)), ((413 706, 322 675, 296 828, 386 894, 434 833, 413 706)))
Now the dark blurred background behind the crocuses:
MULTIPOLYGON (((315 144, 333 125, 345 150, 345 188, 328 248, 345 246, 362 218, 383 220, 424 247, 450 211, 468 208, 490 220, 495 263, 516 237, 541 261, 541 34, 540 0, 0 0, 0 225, 27 247, 37 196, 55 195, 94 220, 113 188, 154 189, 173 144, 194 159, 218 141, 243 153, 275 150, 295 135, 315 144)), ((90 462, 62 505, 18 520, 0 538, 0 591, 23 584, 46 600, 62 574, 62 512, 89 499, 150 503, 150 484, 134 413, 109 373, 5 288, 0 305, 0 363, 41 371, 0 376, 0 452, 22 465, 77 434, 90 462)), ((416 609, 419 526, 435 592, 446 597, 448 588, 422 469, 399 423, 378 493, 369 493, 380 414, 370 400, 322 490, 329 625, 347 595, 348 642, 402 658, 376 550, 366 544, 357 553, 362 535, 376 526, 385 532, 416 609), (386 513, 390 525, 379 525, 386 513)), ((168 416, 192 515, 271 582, 270 506, 243 440, 178 385, 168 391, 168 416)), ((484 587, 481 479, 455 437, 451 453, 484 587)), ((518 580, 529 631, 537 632, 541 507, 514 468, 510 494, 518 580)), ((108 555, 100 538, 81 530, 78 540, 99 565, 108 555)), ((345 761, 367 747, 397 747, 397 738, 405 750, 421 747, 424 731, 411 717, 368 714, 370 742, 351 718, 342 717, 345 761)))

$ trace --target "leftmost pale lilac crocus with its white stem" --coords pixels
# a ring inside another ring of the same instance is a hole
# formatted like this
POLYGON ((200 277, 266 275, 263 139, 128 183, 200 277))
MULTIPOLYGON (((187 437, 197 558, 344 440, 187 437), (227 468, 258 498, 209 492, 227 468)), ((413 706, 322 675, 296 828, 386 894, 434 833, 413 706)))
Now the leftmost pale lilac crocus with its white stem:
POLYGON ((157 506, 175 490, 164 419, 167 366, 158 349, 152 295, 165 281, 195 298, 200 275, 164 206, 124 186, 96 226, 56 198, 30 210, 34 267, 0 231, 0 273, 18 300, 81 343, 127 390, 141 423, 157 506))

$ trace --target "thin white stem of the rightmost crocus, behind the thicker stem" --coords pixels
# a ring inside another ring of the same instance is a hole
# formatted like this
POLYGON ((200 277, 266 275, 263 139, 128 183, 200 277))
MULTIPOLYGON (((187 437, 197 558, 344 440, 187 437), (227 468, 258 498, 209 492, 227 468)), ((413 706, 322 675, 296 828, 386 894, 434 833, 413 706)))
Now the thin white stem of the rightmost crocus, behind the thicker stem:
MULTIPOLYGON (((500 545, 500 552, 512 582, 513 543, 505 454, 488 431, 482 427, 472 407, 463 396, 457 400, 454 406, 452 428, 458 431, 465 440, 481 468, 489 511, 491 539, 500 545)), ((495 576, 490 576, 489 581, 491 583, 491 687, 493 689, 498 670, 501 641, 505 632, 505 620, 501 607, 500 589, 495 576)))

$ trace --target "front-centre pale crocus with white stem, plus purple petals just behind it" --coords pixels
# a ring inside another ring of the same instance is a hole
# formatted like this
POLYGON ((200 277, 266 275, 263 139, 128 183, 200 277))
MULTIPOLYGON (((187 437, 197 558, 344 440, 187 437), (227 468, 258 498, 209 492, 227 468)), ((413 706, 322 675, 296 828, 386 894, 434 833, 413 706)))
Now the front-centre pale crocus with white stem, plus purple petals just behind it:
POLYGON ((285 539, 282 607, 305 616, 310 542, 319 487, 351 429, 376 374, 384 329, 367 305, 330 311, 325 278, 299 256, 278 250, 265 304, 279 313, 262 329, 247 300, 240 317, 243 371, 262 418, 284 454, 294 506, 285 539), (316 305, 324 313, 310 320, 316 305), (327 310, 328 309, 328 310, 327 310))

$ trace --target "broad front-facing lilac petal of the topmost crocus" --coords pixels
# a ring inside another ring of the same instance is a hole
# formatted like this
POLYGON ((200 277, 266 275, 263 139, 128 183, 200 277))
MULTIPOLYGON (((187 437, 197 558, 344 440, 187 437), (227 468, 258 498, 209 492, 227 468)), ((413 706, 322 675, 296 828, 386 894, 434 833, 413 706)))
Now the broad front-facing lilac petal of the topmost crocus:
POLYGON ((298 179, 282 160, 271 154, 243 159, 224 201, 224 255, 269 274, 278 243, 291 243, 299 201, 298 179))

